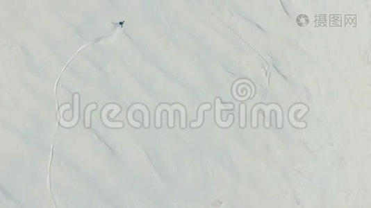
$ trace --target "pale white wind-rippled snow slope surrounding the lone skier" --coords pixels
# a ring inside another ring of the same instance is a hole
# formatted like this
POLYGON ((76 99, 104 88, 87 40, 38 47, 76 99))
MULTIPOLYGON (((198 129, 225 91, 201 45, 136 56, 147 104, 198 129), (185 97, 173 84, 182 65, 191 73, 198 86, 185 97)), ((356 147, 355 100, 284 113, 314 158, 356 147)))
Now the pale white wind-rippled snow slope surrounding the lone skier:
POLYGON ((0 207, 370 207, 370 1, 0 1, 0 207), (298 14, 356 14, 301 28, 298 14), (118 21, 125 20, 124 28, 118 21), (69 62, 69 60, 71 60, 69 62), (306 103, 307 128, 57 125, 56 106, 306 103))

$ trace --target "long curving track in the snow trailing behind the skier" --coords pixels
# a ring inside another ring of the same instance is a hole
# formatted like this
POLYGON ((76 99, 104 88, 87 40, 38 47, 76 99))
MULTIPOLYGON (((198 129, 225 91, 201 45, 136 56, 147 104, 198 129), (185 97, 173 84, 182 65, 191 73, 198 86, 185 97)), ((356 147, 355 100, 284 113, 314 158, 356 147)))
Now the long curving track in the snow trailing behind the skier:
MULTIPOLYGON (((51 198, 53 200, 53 206, 55 208, 58 207, 58 201, 56 199, 56 196, 54 196, 53 189, 52 189, 53 187, 52 187, 52 181, 51 181, 51 171, 52 171, 51 168, 52 168, 52 165, 53 165, 54 148, 55 148, 55 145, 56 145, 56 137, 57 137, 57 134, 58 134, 58 131, 59 131, 59 128, 60 128, 60 118, 61 118, 60 117, 61 115, 60 115, 60 112, 59 112, 60 103, 58 101, 58 85, 60 84, 60 80, 61 80, 63 74, 66 72, 69 64, 71 64, 71 62, 76 58, 77 55, 79 55, 79 53, 81 53, 81 51, 83 51, 84 49, 87 49, 90 46, 93 46, 94 44, 100 44, 101 42, 109 40, 110 37, 113 37, 113 35, 115 35, 115 33, 119 32, 119 31, 122 31, 120 29, 121 28, 119 28, 117 26, 114 26, 113 31, 111 31, 111 33, 109 35, 104 35, 104 36, 101 36, 101 37, 97 37, 92 42, 84 44, 79 49, 77 49, 77 51, 74 53, 74 55, 72 55, 72 57, 68 60, 68 62, 65 64, 63 69, 60 71, 59 76, 54 83, 54 101, 56 103, 57 122, 56 122, 56 130, 53 133, 53 137, 52 137, 53 143, 51 144, 51 147, 50 147, 47 184, 48 184, 49 193, 50 193, 51 198)), ((95 136, 97 137, 97 135, 95 135, 95 136)), ((97 138, 100 139, 100 137, 97 137, 97 138)), ((102 143, 104 143, 104 141, 102 141, 102 143)), ((106 143, 104 143, 104 144, 106 145, 106 143)), ((111 148, 109 148, 109 149, 112 150, 111 148)))

